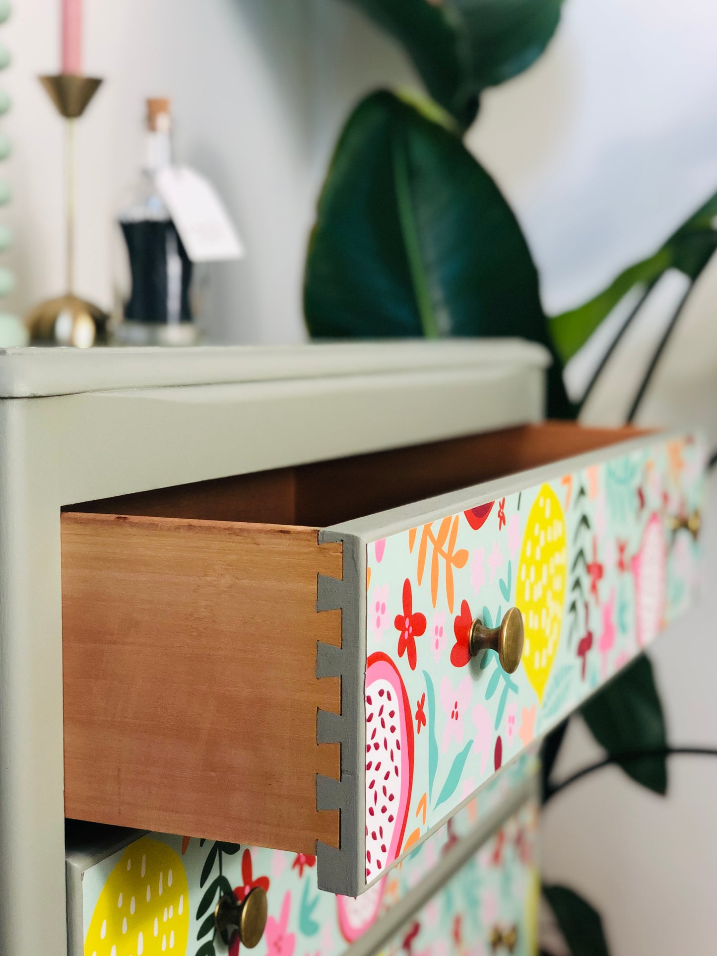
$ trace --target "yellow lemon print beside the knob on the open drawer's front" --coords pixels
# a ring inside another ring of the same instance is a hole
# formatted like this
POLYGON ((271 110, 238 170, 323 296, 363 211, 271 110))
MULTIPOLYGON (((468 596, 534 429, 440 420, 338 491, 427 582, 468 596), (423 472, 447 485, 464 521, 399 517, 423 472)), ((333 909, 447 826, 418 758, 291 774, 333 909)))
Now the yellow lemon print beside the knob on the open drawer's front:
POLYGON ((523 666, 541 703, 560 640, 567 561, 565 515, 554 490, 543 485, 528 515, 515 583, 525 626, 523 666))

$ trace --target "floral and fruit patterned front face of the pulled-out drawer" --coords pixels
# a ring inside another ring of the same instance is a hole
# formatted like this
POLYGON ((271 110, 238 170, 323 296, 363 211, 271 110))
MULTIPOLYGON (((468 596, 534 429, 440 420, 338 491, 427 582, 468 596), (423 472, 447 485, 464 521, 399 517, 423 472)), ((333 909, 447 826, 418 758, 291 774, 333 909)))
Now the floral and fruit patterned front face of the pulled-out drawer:
POLYGON ((704 462, 656 439, 368 545, 367 883, 692 602, 704 462), (509 675, 468 632, 513 605, 509 675))

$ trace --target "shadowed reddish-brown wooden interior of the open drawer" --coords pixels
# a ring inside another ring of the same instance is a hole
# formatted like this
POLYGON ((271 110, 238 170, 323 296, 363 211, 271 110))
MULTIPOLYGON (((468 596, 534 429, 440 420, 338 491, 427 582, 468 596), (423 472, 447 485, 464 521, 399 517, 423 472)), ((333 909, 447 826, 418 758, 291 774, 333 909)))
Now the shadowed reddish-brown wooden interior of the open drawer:
POLYGON ((521 425, 373 454, 82 502, 64 511, 326 528, 549 465, 644 434, 572 422, 521 425))

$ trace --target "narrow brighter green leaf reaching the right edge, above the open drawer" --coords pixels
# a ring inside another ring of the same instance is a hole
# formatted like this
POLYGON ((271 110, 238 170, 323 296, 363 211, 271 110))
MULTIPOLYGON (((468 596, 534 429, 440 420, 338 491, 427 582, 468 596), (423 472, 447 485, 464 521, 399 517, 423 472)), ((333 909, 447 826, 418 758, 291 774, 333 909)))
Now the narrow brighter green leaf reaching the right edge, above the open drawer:
POLYGON ((630 266, 604 291, 577 309, 550 320, 555 348, 563 362, 571 359, 590 338, 599 324, 632 289, 649 286, 668 269, 678 269, 694 279, 717 250, 717 193, 711 196, 648 258, 630 266))

